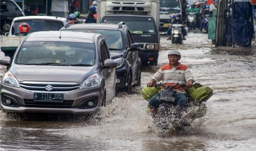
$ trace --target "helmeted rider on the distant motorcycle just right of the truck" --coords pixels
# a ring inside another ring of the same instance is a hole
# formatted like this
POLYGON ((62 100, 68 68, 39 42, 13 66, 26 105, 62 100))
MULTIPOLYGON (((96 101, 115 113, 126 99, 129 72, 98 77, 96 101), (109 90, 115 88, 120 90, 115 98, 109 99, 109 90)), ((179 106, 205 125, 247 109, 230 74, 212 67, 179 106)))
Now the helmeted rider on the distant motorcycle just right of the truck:
MULTIPOLYGON (((175 18, 173 18, 172 22, 171 22, 171 25, 172 24, 181 24, 181 25, 183 25, 183 27, 181 28, 181 32, 182 32, 182 36, 183 36, 182 38, 183 38, 183 40, 186 40, 185 36, 187 36, 187 31, 184 28, 186 26, 186 24, 182 20, 181 14, 175 14, 175 18)), ((168 28, 167 35, 168 35, 167 40, 171 40, 172 39, 172 27, 168 28)))

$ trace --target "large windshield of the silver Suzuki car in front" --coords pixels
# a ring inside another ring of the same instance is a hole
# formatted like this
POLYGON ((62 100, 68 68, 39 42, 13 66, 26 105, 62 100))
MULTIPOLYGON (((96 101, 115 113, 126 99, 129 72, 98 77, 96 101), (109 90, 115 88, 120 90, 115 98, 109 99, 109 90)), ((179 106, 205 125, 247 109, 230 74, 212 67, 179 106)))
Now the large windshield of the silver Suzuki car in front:
POLYGON ((24 42, 16 62, 19 65, 93 66, 95 45, 75 42, 24 42))

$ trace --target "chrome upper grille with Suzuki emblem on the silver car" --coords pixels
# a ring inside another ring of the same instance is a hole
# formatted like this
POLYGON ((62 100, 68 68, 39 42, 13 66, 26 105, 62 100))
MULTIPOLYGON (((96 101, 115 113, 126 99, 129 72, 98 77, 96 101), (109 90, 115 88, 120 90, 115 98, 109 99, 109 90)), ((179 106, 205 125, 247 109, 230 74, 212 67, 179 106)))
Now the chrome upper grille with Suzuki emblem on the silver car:
POLYGON ((65 82, 20 82, 20 88, 28 91, 69 92, 80 87, 78 83, 65 82))

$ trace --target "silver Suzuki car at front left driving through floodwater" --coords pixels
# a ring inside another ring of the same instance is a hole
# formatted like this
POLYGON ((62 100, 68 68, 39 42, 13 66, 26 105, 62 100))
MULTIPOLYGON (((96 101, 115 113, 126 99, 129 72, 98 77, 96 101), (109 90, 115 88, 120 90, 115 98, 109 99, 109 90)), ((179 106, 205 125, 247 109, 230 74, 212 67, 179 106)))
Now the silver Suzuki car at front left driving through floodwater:
POLYGON ((1 82, 3 112, 91 113, 116 94, 117 62, 101 34, 48 31, 29 34, 1 82))

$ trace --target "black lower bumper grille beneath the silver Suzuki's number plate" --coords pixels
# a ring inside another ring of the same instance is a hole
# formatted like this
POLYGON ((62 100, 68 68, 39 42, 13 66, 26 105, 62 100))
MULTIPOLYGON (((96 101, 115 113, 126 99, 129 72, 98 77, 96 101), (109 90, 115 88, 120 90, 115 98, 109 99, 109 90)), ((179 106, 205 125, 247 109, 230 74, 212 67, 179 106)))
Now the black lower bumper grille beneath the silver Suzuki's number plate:
POLYGON ((26 107, 41 108, 72 108, 74 100, 63 100, 63 102, 37 102, 34 100, 24 100, 26 107))

